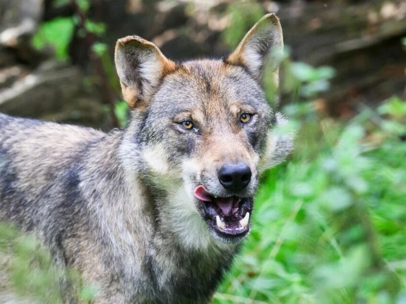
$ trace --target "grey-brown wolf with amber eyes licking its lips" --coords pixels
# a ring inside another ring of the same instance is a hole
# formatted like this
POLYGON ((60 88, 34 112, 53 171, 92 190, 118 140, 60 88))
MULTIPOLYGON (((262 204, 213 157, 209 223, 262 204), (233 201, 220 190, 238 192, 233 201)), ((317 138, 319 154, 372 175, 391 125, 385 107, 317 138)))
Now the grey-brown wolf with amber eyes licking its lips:
POLYGON ((279 19, 223 59, 174 62, 139 36, 115 64, 130 107, 104 133, 0 115, 0 217, 96 284, 95 303, 207 303, 250 231, 264 170, 293 147, 277 86, 279 19))

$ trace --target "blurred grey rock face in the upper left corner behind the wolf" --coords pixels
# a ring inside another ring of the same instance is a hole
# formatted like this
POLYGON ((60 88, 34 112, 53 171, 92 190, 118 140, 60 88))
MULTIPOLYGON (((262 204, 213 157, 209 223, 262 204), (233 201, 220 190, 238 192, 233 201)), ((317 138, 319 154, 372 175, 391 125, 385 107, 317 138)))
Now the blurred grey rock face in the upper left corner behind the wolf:
POLYGON ((42 15, 43 0, 0 0, 0 112, 108 129, 80 68, 32 48, 42 15))

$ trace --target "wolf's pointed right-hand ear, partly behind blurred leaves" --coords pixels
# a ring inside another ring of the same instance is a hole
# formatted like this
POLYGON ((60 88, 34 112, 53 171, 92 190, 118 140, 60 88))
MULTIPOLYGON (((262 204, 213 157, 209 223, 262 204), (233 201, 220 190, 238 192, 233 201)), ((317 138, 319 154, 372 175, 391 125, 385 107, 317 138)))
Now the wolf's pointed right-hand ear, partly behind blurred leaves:
POLYGON ((244 36, 227 62, 247 67, 255 79, 261 81, 267 59, 273 70, 276 87, 279 84, 278 53, 283 50, 282 27, 275 14, 263 16, 244 36))

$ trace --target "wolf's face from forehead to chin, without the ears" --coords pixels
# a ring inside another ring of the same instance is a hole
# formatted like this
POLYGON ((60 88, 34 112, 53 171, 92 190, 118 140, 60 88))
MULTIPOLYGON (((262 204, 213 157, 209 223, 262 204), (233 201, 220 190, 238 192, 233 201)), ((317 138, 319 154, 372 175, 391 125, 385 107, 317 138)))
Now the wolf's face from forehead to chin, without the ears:
MULTIPOLYGON (((223 61, 184 63, 163 79, 147 113, 140 134, 147 146, 163 150, 164 174, 182 177, 216 236, 244 236, 274 116, 258 83, 243 67, 223 61)), ((149 166, 156 164, 155 158, 149 166)))

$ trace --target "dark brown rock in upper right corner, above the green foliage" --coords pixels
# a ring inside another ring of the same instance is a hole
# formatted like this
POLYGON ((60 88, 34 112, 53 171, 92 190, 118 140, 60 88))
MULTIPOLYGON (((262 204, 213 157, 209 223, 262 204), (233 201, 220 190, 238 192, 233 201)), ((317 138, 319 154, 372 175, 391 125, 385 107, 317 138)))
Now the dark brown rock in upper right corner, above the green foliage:
POLYGON ((354 112, 360 100, 374 106, 395 94, 406 97, 404 1, 296 1, 281 5, 278 16, 295 60, 336 70, 323 96, 330 114, 354 112))

